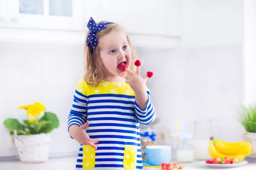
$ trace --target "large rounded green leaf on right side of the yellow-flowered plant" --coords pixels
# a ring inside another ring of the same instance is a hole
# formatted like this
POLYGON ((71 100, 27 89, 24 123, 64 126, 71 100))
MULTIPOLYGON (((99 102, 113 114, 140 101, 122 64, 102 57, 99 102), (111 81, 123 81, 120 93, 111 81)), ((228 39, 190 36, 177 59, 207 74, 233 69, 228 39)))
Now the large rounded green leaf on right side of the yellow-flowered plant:
POLYGON ((39 122, 41 121, 50 121, 51 123, 45 127, 42 127, 41 130, 39 131, 40 133, 49 133, 53 129, 58 128, 59 126, 58 117, 52 112, 45 112, 44 116, 41 117, 41 119, 39 119, 39 122))

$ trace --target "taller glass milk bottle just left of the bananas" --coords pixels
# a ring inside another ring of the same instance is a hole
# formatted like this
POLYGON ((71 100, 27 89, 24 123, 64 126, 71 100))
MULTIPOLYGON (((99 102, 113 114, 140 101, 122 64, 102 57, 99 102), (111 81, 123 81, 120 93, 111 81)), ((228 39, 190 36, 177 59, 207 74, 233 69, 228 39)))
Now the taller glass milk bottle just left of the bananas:
POLYGON ((200 120, 194 122, 194 156, 195 160, 211 159, 208 147, 210 144, 210 136, 212 127, 212 119, 200 120))

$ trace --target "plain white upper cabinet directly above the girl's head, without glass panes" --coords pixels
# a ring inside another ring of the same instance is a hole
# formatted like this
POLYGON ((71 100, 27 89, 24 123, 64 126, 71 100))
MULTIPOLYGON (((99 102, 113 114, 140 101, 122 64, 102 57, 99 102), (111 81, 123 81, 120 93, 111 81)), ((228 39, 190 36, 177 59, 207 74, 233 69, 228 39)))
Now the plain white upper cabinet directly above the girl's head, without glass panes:
POLYGON ((93 0, 84 11, 85 25, 91 16, 116 22, 131 34, 180 36, 180 0, 93 0))

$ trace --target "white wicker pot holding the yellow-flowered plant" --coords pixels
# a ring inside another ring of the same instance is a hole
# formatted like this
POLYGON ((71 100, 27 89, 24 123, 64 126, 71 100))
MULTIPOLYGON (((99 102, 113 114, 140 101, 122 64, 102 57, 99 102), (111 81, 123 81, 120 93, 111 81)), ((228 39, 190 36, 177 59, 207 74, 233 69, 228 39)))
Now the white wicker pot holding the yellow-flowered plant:
POLYGON ((24 163, 46 162, 49 158, 49 133, 36 135, 17 135, 14 137, 15 146, 18 149, 20 161, 24 163))

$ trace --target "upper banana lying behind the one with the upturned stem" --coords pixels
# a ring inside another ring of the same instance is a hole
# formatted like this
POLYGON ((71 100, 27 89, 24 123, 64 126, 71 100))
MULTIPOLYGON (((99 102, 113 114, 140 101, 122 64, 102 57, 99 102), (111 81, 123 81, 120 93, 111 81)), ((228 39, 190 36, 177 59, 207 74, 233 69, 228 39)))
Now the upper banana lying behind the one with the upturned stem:
POLYGON ((241 142, 224 142, 218 139, 213 139, 215 148, 223 154, 227 155, 239 155, 244 154, 245 156, 250 155, 250 150, 252 150, 252 144, 247 141, 241 142))

